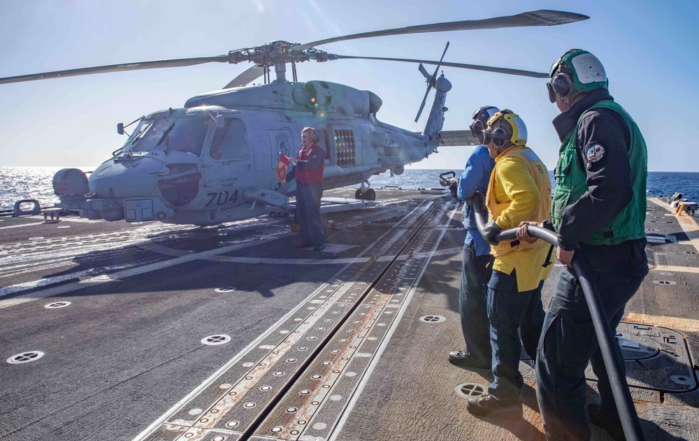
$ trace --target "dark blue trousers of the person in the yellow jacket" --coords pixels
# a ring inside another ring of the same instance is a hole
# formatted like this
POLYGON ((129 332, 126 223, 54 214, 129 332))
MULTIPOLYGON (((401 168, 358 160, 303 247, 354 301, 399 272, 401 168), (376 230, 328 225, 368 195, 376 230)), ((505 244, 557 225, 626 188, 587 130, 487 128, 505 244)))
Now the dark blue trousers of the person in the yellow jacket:
POLYGON ((493 346, 493 382, 488 393, 496 400, 519 400, 524 379, 519 373, 522 345, 527 354, 535 354, 544 321, 539 286, 517 291, 517 272, 511 275, 493 270, 488 283, 488 318, 493 346), (520 342, 521 334, 521 342, 520 342))

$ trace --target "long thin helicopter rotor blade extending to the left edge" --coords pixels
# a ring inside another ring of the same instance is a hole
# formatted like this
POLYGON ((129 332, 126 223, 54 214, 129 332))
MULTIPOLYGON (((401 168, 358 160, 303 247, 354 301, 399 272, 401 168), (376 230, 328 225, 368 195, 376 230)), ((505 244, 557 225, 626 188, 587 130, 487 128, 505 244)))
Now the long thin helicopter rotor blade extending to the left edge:
POLYGON ((138 71, 140 69, 157 69, 165 67, 182 67, 194 66, 204 63, 228 63, 228 55, 219 55, 218 57, 196 57, 196 58, 178 58, 178 59, 162 59, 152 62, 136 62, 124 64, 110 64, 109 66, 95 66, 78 69, 69 69, 66 71, 53 71, 43 73, 32 73, 30 75, 17 75, 15 77, 0 78, 0 84, 8 84, 10 82, 48 80, 50 78, 72 77, 75 75, 91 75, 92 73, 108 73, 108 72, 125 72, 138 71))

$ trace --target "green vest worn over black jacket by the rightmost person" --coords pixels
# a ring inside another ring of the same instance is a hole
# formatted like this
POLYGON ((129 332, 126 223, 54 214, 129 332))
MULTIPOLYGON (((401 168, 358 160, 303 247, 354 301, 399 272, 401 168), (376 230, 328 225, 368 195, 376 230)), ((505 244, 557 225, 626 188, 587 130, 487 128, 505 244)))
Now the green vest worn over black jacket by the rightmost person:
MULTIPOLYGON (((617 217, 614 217, 611 222, 582 240, 582 243, 589 245, 617 245, 626 240, 640 239, 646 236, 646 176, 648 168, 646 143, 636 123, 619 104, 614 101, 598 101, 588 110, 596 108, 612 109, 624 117, 626 121, 631 134, 628 159, 631 164, 633 197, 617 217)), ((551 205, 551 219, 556 231, 558 231, 561 224, 561 216, 563 216, 565 207, 575 203, 588 190, 587 174, 584 168, 577 165, 577 159, 575 158, 578 154, 575 149, 578 127, 580 120, 582 120, 583 115, 588 110, 580 115, 575 129, 572 129, 561 143, 559 161, 556 164, 556 171, 554 171, 556 191, 554 192, 551 205)))

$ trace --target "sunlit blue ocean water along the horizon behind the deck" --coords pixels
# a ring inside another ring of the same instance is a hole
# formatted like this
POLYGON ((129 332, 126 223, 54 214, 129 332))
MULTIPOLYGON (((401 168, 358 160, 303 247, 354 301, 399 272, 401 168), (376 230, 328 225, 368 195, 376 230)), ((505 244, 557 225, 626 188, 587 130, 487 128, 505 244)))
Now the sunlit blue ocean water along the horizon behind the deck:
MULTIPOLYGON (((0 205, 11 206, 19 199, 36 199, 42 207, 50 207, 59 202, 53 194, 53 175, 63 167, 0 167, 0 205)), ((92 171, 89 167, 76 167, 82 171, 92 171)), ((386 186, 402 189, 437 188, 440 173, 449 170, 406 169, 400 176, 382 173, 370 179, 371 186, 381 188, 386 186)), ((463 170, 454 169, 456 175, 463 170)), ((553 182, 553 172, 549 171, 553 182)), ((356 186, 353 186, 356 187, 356 186)), ((684 193, 684 198, 690 201, 699 199, 699 172, 664 172, 648 173, 647 194, 649 196, 667 196, 670 192, 684 193)))

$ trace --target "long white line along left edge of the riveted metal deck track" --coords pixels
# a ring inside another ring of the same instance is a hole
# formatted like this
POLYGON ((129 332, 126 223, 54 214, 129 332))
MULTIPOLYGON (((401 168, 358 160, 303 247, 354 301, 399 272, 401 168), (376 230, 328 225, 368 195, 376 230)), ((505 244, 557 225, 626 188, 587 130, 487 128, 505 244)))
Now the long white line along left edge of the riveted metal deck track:
MULTIPOLYGON (((369 250, 371 250, 375 245, 377 245, 377 243, 379 243, 380 240, 382 240, 385 236, 389 235, 389 233, 391 233, 391 232, 394 232, 394 233, 395 233, 394 230, 399 230, 399 229, 397 228, 397 226, 398 226, 399 224, 402 224, 403 222, 405 222, 405 219, 408 219, 408 217, 409 217, 410 215, 412 215, 413 212, 417 211, 418 208, 421 208, 421 205, 422 205, 422 204, 419 204, 419 205, 417 205, 417 207, 415 207, 413 210, 410 210, 410 212, 408 212, 408 214, 406 214, 401 220, 399 220, 398 222, 396 222, 396 226, 391 227, 388 231, 386 231, 386 232, 383 233, 381 236, 379 236, 376 240, 374 240, 373 243, 371 243, 370 245, 368 245, 368 247, 366 247, 361 253, 359 253, 359 255, 357 256, 357 258, 363 257, 364 254, 366 254, 366 253, 367 253, 369 250)), ((401 230, 405 230, 405 229, 401 229, 401 230)), ((443 233, 444 233, 444 232, 442 231, 442 235, 443 235, 443 233)), ((397 236, 397 235, 394 234, 394 236, 397 236)), ((440 239, 441 239, 441 236, 440 236, 440 239)), ((391 240, 391 243, 393 243, 394 241, 395 241, 395 240, 391 240)), ((438 244, 438 243, 439 243, 439 240, 438 240, 437 244, 438 244)), ((436 246, 436 244, 435 244, 435 246, 436 246)), ((384 244, 383 247, 387 247, 387 245, 384 244)), ((287 319, 288 319, 289 317, 291 317, 292 315, 296 314, 299 310, 301 310, 301 308, 305 308, 305 305, 306 305, 309 301, 311 301, 311 300, 313 299, 313 297, 317 296, 317 294, 319 294, 321 291, 323 291, 324 289, 326 289, 326 287, 329 287, 330 284, 332 284, 333 282, 335 282, 335 281, 340 277, 340 275, 342 275, 342 273, 343 273, 345 270, 347 270, 347 268, 349 268, 349 264, 346 265, 346 266, 343 266, 343 268, 340 268, 340 270, 338 270, 337 273, 335 273, 334 275, 332 275, 332 276, 328 279, 327 282, 324 282, 324 284, 322 284, 318 289, 316 289, 315 291, 313 291, 312 294, 310 294, 310 296, 306 297, 304 301, 302 301, 301 303, 298 303, 298 305, 296 306, 296 308, 294 308, 293 310, 289 311, 289 313, 287 313, 287 315, 284 315, 284 317, 282 317, 281 319, 279 319, 275 324, 273 324, 272 326, 270 326, 269 328, 267 328, 267 330, 264 331, 264 333, 261 333, 261 335, 259 335, 258 338, 256 338, 253 342, 251 342, 250 345, 247 345, 245 348, 243 348, 243 350, 241 350, 240 352, 238 352, 238 354, 236 354, 235 356, 233 356, 233 358, 232 358, 231 360, 229 360, 226 364, 224 364, 224 366, 221 366, 221 368, 219 368, 219 370, 217 370, 217 371, 216 371, 215 373, 213 373, 210 377, 208 377, 208 378, 205 379, 203 382, 201 382, 201 384, 199 384, 199 386, 197 386, 193 391, 189 392, 189 393, 187 394, 187 396, 185 396, 185 398, 182 398, 182 400, 180 400, 177 404, 175 404, 173 407, 171 407, 170 410, 168 410, 167 412, 165 412, 164 414, 162 414, 161 417, 159 417, 157 420, 153 421, 153 423, 152 423, 150 426, 148 426, 147 428, 145 428, 145 430, 144 430, 143 432, 141 432, 141 433, 139 433, 138 435, 136 435, 136 438, 134 438, 133 441, 140 441, 140 440, 143 440, 145 437, 147 437, 148 435, 150 435, 150 433, 151 433, 152 431, 154 431, 160 424, 163 424, 165 421, 167 421, 167 419, 168 419, 169 417, 171 417, 171 415, 173 415, 175 412, 177 412, 177 411, 180 409, 180 407, 182 407, 183 405, 185 405, 189 400, 192 400, 192 398, 194 398, 197 394, 199 394, 201 391, 203 391, 203 389, 206 389, 206 387, 208 387, 208 386, 209 386, 212 382, 214 382, 218 377, 220 377, 221 375, 223 375, 223 373, 225 373, 226 370, 228 370, 229 368, 231 368, 231 366, 233 366, 235 363, 238 363, 238 361, 240 361, 240 359, 243 359, 243 357, 247 354, 247 352, 250 352, 250 349, 252 349, 253 347, 259 345, 259 342, 261 342, 262 340, 264 340, 264 338, 266 338, 266 337, 267 337, 268 335, 270 335, 271 333, 275 332, 275 330, 277 330, 278 327, 279 327, 285 320, 287 320, 287 319)))

